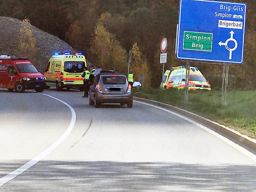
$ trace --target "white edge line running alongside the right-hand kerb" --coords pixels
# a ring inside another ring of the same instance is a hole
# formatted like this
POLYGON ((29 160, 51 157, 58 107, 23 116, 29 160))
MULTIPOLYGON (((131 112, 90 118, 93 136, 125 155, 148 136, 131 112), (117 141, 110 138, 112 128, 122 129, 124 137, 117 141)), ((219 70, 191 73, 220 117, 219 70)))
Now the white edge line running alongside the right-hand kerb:
POLYGON ((252 161, 254 161, 256 163, 256 155, 254 155, 253 153, 251 153, 250 151, 248 151, 247 149, 243 148, 242 146, 234 143, 233 141, 229 140, 228 138, 220 135, 219 133, 216 133, 215 131, 209 129, 208 127, 206 126, 203 126, 202 124, 199 124, 198 122, 195 122, 185 116, 182 116, 178 113, 175 113, 173 111, 169 111, 168 109, 164 109, 162 107, 158 107, 158 106, 155 106, 155 105, 151 105, 151 104, 148 104, 148 103, 143 103, 143 102, 138 102, 138 101, 134 101, 134 102, 137 102, 137 103, 141 103, 141 104, 144 104, 144 105, 148 105, 148 106, 151 106, 151 107, 155 107, 157 109, 161 109, 163 111, 166 111, 168 113, 171 113, 171 114, 174 114, 184 120, 187 120, 188 122, 191 122, 192 124, 194 124, 195 126, 198 126, 200 127, 201 129, 204 129, 205 131, 211 133, 212 135, 214 135, 215 137, 223 140, 224 142, 226 142, 227 144, 229 144, 230 146, 234 147, 236 150, 238 150, 239 152, 243 153, 243 155, 247 156, 249 159, 251 159, 252 161))

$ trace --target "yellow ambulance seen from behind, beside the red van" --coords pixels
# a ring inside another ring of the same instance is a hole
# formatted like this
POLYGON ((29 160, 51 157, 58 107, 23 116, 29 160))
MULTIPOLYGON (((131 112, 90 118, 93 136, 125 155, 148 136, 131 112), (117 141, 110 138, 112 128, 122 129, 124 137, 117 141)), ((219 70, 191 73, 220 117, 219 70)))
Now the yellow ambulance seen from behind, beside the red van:
POLYGON ((55 53, 50 58, 45 72, 46 89, 56 87, 56 90, 62 90, 77 87, 82 90, 85 66, 86 60, 82 53, 55 53))

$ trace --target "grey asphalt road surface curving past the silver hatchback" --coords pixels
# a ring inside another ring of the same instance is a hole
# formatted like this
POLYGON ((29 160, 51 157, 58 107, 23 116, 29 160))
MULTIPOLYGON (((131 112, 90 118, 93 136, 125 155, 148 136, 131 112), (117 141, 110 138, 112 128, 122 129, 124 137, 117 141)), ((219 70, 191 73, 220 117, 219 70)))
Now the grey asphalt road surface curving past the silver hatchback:
POLYGON ((255 155, 218 134, 143 103, 94 108, 82 95, 0 89, 1 192, 256 191, 255 155))

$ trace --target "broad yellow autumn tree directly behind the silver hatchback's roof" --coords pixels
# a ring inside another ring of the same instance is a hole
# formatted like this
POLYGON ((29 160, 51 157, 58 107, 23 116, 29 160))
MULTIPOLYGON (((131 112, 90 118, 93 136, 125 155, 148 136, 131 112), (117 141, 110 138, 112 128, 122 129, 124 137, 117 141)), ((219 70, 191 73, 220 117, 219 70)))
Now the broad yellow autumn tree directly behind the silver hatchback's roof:
POLYGON ((119 41, 109 33, 103 25, 95 28, 94 38, 90 49, 94 64, 105 69, 116 69, 124 73, 126 71, 126 51, 119 41))

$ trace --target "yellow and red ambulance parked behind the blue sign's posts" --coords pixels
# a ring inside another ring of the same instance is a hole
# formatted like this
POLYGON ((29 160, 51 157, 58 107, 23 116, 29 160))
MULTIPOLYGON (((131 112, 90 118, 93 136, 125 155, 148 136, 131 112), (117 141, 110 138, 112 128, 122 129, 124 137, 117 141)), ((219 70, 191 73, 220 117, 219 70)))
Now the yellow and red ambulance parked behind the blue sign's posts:
MULTIPOLYGON (((171 67, 166 88, 176 87, 184 89, 186 84, 186 66, 171 67)), ((211 85, 198 70, 197 67, 190 67, 189 70, 189 90, 206 89, 211 90, 211 85)))

